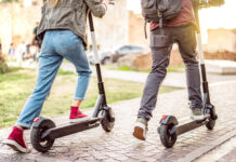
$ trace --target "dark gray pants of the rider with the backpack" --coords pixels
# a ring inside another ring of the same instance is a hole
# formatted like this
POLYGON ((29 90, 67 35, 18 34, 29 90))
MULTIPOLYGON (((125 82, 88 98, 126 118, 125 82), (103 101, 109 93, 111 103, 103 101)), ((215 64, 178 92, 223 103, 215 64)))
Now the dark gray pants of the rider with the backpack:
POLYGON ((178 43, 181 57, 185 64, 191 108, 202 107, 194 26, 157 28, 150 31, 153 64, 143 91, 139 118, 149 120, 152 117, 152 111, 156 107, 159 86, 167 75, 173 43, 178 43))

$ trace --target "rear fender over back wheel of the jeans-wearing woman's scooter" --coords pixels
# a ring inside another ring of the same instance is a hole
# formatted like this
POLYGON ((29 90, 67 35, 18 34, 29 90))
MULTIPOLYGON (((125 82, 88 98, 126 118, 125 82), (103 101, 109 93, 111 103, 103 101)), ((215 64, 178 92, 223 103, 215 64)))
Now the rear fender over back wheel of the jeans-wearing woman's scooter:
POLYGON ((34 129, 43 127, 44 125, 47 125, 49 127, 55 127, 54 122, 51 119, 49 119, 49 118, 37 117, 34 120, 34 123, 32 123, 32 127, 34 129))

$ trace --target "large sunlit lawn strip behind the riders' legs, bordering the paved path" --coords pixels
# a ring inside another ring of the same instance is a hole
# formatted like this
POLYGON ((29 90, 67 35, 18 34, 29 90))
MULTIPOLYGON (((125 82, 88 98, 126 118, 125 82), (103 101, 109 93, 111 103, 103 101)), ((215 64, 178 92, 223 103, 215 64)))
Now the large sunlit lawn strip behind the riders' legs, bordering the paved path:
MULTIPOLYGON (((24 104, 34 91, 37 70, 13 68, 11 72, 0 75, 0 129, 6 127, 17 120, 24 104)), ((50 97, 45 100, 41 116, 57 117, 69 112, 76 89, 77 75, 60 70, 50 97)), ((107 102, 115 103, 142 96, 143 83, 105 79, 107 102)), ((160 93, 173 91, 173 87, 161 87, 160 93)), ((90 86, 82 103, 82 108, 93 107, 97 97, 96 78, 91 78, 90 86)))

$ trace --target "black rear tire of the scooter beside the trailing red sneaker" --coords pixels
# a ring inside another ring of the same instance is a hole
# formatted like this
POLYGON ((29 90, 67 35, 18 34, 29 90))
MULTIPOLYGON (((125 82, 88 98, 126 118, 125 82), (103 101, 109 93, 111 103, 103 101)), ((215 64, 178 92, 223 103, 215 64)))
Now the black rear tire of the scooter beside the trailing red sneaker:
POLYGON ((49 119, 43 120, 38 127, 32 127, 30 138, 32 147, 37 151, 47 152, 53 146, 54 139, 41 138, 42 133, 52 127, 55 127, 55 124, 49 119))

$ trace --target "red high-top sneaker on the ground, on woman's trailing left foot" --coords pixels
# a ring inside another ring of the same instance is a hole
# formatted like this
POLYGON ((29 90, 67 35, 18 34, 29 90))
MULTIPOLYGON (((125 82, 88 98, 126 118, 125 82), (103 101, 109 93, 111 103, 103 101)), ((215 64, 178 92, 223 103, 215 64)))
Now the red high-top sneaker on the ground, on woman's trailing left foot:
POLYGON ((23 130, 14 126, 12 133, 9 135, 5 144, 10 146, 13 150, 28 153, 30 149, 26 146, 24 137, 23 137, 23 130))

